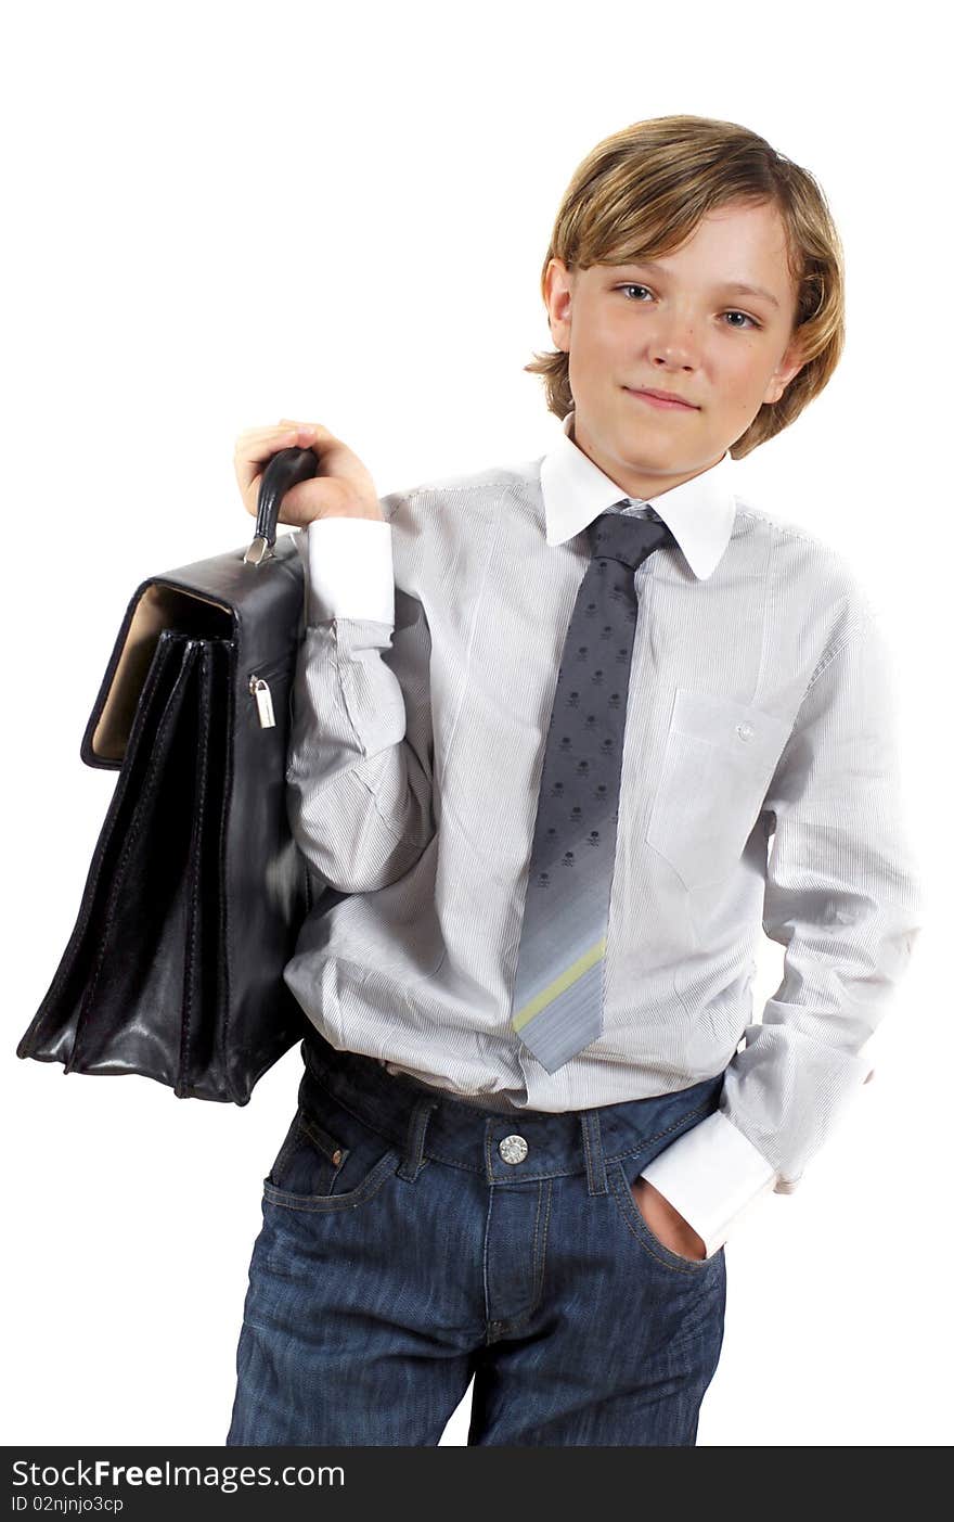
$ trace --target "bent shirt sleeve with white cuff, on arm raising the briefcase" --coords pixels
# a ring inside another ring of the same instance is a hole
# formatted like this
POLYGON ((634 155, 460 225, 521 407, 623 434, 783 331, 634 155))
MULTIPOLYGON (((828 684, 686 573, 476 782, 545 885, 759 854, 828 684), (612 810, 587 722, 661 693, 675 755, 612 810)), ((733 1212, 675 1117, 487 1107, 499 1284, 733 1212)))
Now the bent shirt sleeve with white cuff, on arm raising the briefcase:
POLYGON ((298 530, 304 629, 292 689, 286 807, 323 884, 342 893, 396 881, 434 839, 431 630, 394 586, 396 513, 298 530))

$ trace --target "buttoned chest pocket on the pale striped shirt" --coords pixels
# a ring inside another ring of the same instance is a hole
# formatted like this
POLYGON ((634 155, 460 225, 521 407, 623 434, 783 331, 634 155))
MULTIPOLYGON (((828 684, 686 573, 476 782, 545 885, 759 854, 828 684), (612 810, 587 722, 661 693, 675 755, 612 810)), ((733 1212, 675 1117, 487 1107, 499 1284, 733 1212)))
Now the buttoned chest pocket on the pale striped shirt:
POLYGON ((761 708, 676 689, 645 840, 685 887, 736 866, 791 726, 761 708))

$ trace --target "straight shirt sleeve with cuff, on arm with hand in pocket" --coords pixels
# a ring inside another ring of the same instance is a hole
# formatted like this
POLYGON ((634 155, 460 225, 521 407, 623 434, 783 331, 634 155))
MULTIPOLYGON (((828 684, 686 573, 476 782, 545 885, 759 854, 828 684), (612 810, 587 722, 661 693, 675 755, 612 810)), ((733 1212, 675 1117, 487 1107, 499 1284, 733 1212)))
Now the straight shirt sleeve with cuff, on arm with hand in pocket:
POLYGON ((708 1257, 756 1199, 793 1193, 873 1076, 863 1049, 922 919, 895 712, 892 651, 869 609, 819 662, 765 794, 762 928, 785 947, 782 982, 744 1030, 720 1108, 644 1170, 708 1257))

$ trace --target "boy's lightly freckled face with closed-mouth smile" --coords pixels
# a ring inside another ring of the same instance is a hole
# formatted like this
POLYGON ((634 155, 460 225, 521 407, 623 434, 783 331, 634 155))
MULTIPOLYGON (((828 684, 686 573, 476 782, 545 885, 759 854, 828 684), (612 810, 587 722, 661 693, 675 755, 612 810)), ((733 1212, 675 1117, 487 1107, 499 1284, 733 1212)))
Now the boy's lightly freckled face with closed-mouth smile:
POLYGON ((568 271, 551 259, 545 294, 554 344, 569 353, 574 441, 628 496, 708 470, 802 368, 773 205, 718 207, 656 263, 568 271), (653 406, 633 394, 641 387, 695 406, 653 406))

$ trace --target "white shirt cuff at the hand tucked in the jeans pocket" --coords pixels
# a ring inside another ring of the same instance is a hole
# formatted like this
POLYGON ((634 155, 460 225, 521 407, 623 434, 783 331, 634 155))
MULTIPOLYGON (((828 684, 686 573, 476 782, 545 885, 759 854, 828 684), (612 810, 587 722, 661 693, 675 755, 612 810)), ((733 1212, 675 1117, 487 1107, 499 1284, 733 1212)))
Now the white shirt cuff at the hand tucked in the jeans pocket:
POLYGON ((776 1175, 759 1149, 715 1110, 647 1163, 642 1178, 698 1231, 706 1257, 712 1257, 741 1213, 771 1193, 776 1175))

